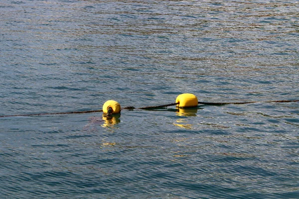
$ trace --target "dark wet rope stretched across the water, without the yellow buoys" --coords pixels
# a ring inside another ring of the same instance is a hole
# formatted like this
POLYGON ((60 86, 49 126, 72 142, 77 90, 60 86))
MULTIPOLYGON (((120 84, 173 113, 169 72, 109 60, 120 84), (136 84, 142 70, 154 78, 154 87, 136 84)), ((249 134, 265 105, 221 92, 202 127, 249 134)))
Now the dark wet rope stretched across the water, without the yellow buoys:
MULTIPOLYGON (((264 101, 264 103, 282 103, 282 102, 296 102, 299 100, 274 100, 274 101, 264 101)), ((226 105, 226 104, 246 104, 246 103, 258 103, 262 101, 243 101, 243 102, 203 102, 203 101, 198 101, 198 104, 205 104, 205 105, 226 105)), ((133 110, 133 109, 154 109, 154 108, 163 108, 167 106, 172 106, 172 105, 178 105, 179 102, 176 103, 168 103, 168 104, 163 104, 163 105, 156 105, 156 106, 145 106, 145 107, 139 107, 135 108, 134 106, 126 106, 122 109, 128 109, 128 110, 133 110)), ((18 115, 0 115, 0 117, 13 117, 13 116, 39 116, 39 115, 58 115, 58 114, 77 114, 77 113, 90 113, 90 112, 103 112, 102 109, 100 110, 85 110, 85 111, 72 111, 72 112, 54 112, 54 113, 36 113, 36 114, 18 114, 18 115)))

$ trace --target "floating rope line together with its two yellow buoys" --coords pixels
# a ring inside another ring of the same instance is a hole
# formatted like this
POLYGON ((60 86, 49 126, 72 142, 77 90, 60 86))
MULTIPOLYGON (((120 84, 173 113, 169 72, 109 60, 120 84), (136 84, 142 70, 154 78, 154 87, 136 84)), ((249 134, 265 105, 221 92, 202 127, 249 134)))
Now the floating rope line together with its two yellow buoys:
MULTIPOLYGON (((270 101, 264 101, 264 103, 272 103, 272 102, 296 102, 299 100, 270 100, 270 101)), ((246 104, 246 103, 258 103, 260 101, 244 101, 244 102, 203 102, 203 101, 197 101, 197 98, 193 94, 182 94, 178 96, 175 103, 167 103, 163 105, 156 105, 156 106, 145 106, 145 107, 139 107, 135 108, 134 106, 126 106, 124 108, 121 108, 120 104, 114 100, 108 100, 103 105, 103 109, 99 110, 85 110, 85 111, 72 111, 72 112, 55 112, 55 113, 36 113, 36 114, 17 114, 17 115, 0 115, 0 117, 13 117, 13 116, 39 116, 39 115, 57 115, 57 114, 78 114, 78 113, 91 113, 91 112, 104 112, 105 114, 111 115, 115 113, 120 113, 121 109, 156 109, 156 108, 163 108, 167 106, 172 105, 179 105, 181 107, 181 104, 186 104, 182 107, 191 107, 190 104, 192 103, 192 107, 197 107, 197 104, 205 104, 205 105, 226 105, 226 104, 246 104), (195 101, 194 101, 195 100, 195 101), (109 102, 109 103, 107 103, 109 102), (195 103, 194 103, 195 102, 195 103), (107 104, 106 104, 107 103, 107 104), (111 105, 112 104, 112 105, 111 105), (104 111, 105 109, 105 111, 104 111), (106 111, 107 109, 107 111, 106 111), (117 112, 113 112, 116 111, 117 112)))

